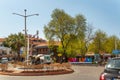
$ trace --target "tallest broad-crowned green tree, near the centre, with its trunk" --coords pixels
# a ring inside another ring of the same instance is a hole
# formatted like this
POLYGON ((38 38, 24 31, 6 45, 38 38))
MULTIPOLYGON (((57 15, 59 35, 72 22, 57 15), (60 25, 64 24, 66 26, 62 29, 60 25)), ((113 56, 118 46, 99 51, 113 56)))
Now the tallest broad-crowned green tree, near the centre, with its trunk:
POLYGON ((86 19, 80 14, 73 18, 60 9, 55 9, 51 17, 52 20, 44 26, 45 36, 49 41, 60 41, 62 53, 66 55, 73 40, 85 37, 86 19))

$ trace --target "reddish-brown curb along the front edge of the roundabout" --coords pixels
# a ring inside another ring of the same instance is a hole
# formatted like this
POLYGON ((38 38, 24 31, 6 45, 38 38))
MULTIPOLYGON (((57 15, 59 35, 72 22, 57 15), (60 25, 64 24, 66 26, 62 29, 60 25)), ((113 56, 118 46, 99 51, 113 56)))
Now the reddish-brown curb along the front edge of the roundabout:
POLYGON ((8 76, 46 76, 46 75, 61 75, 61 74, 70 74, 73 73, 74 70, 52 70, 52 71, 21 71, 21 72, 0 72, 1 75, 8 76))

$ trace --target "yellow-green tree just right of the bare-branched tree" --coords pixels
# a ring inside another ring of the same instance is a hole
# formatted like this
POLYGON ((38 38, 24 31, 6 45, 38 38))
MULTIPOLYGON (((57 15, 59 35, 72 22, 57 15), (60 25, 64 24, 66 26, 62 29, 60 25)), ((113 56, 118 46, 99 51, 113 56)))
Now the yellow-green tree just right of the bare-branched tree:
POLYGON ((98 30, 95 32, 94 39, 92 43, 89 45, 89 51, 93 51, 95 53, 101 53, 105 51, 105 42, 107 40, 107 35, 105 32, 98 30))

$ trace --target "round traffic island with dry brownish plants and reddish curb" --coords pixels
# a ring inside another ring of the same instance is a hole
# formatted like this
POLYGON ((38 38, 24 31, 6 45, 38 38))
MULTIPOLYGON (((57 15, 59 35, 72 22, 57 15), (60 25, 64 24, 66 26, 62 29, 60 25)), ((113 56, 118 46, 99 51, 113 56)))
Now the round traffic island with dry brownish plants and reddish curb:
MULTIPOLYGON (((3 66, 3 65, 2 65, 3 66)), ((54 64, 39 64, 39 65, 26 65, 23 63, 6 64, 6 70, 0 70, 0 75, 8 76, 46 76, 46 75, 61 75, 70 74, 74 70, 71 69, 69 63, 54 63, 54 64)), ((1 67, 2 68, 2 67, 1 67)))

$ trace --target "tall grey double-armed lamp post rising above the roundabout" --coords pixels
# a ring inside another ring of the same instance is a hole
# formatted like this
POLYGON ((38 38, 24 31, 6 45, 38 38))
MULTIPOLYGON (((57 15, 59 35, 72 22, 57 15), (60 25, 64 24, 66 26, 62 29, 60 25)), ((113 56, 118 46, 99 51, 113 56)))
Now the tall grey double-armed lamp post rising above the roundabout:
POLYGON ((39 14, 30 14, 30 15, 27 15, 26 14, 26 12, 27 12, 27 10, 25 9, 24 10, 24 12, 25 12, 25 14, 24 15, 21 15, 21 14, 18 14, 18 13, 13 13, 14 15, 18 15, 18 16, 22 16, 22 17, 24 17, 24 24, 25 24, 25 29, 24 29, 24 31, 25 31, 25 53, 27 53, 27 60, 28 60, 28 53, 29 53, 29 51, 27 51, 27 27, 26 27, 26 19, 27 19, 27 17, 31 17, 31 16, 38 16, 39 14))

